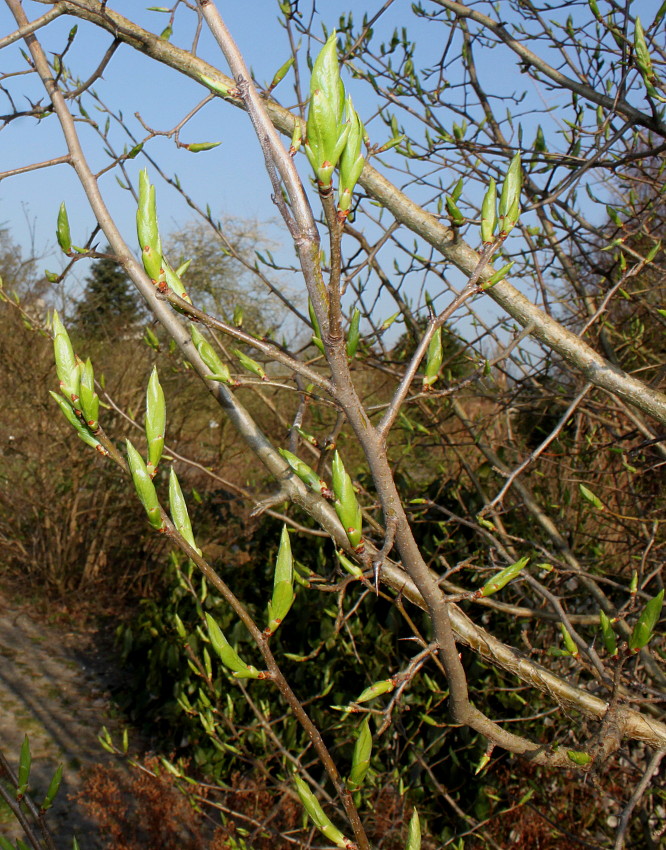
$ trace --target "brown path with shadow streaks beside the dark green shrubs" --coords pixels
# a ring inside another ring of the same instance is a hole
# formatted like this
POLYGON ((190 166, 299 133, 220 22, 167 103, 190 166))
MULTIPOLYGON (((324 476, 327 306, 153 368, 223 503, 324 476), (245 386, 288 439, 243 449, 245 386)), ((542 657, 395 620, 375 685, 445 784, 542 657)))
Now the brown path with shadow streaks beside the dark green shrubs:
MULTIPOLYGON (((0 750, 16 770, 27 733, 32 752, 30 787, 39 804, 58 764, 64 778, 49 813, 58 850, 101 850, 96 826, 68 797, 81 786, 81 768, 113 759, 99 744, 102 728, 115 731, 108 696, 109 665, 100 660, 94 635, 45 626, 0 594, 0 750)), ((115 761, 115 759, 113 759, 115 761)), ((22 837, 6 806, 0 807, 0 835, 22 837)))

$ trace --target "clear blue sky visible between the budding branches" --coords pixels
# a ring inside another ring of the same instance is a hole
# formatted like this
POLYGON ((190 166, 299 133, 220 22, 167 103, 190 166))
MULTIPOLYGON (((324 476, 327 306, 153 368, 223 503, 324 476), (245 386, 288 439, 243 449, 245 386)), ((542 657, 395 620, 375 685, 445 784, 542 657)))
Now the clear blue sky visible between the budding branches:
MULTIPOLYGON (((150 2, 150 0, 148 0, 150 2)), ((161 32, 167 22, 167 15, 146 10, 148 2, 137 0, 109 0, 109 7, 125 14, 153 32, 161 32)), ((303 4, 305 7, 308 4, 303 4)), ((340 14, 351 4, 337 0, 321 0, 317 6, 321 20, 329 28, 336 25, 340 14)), ((358 0, 353 4, 357 22, 364 12, 374 14, 383 5, 383 0, 358 0)), ((657 0, 636 0, 632 5, 634 14, 640 13, 645 20, 651 20, 659 8, 657 0)), ((25 10, 29 17, 35 18, 44 13, 46 6, 25 0, 25 10)), ((587 5, 582 4, 581 8, 587 5)), ((574 12, 575 5, 571 7, 574 12)), ((285 31, 277 22, 276 0, 252 0, 252 2, 225 2, 220 4, 225 20, 244 52, 248 64, 253 68, 260 81, 268 82, 275 70, 289 55, 285 31)), ((188 47, 192 38, 191 23, 193 16, 177 16, 172 41, 179 46, 188 47)), ((50 24, 39 35, 47 51, 60 52, 74 20, 62 18, 50 24)), ((417 39, 419 65, 428 64, 428 58, 435 58, 441 49, 444 31, 441 26, 426 23, 411 13, 411 3, 396 0, 380 22, 380 31, 389 35, 394 26, 407 25, 409 33, 417 39)), ((0 36, 15 28, 7 7, 0 3, 0 36)), ((99 57, 110 43, 110 36, 95 27, 80 23, 79 32, 67 57, 68 66, 82 79, 96 67, 99 57)), ((25 68, 18 53, 19 45, 12 45, 0 53, 0 68, 17 70, 25 68)), ((225 62, 218 47, 213 43, 204 28, 199 55, 226 70, 225 62)), ((528 98, 521 109, 528 114, 523 120, 526 137, 531 138, 538 121, 551 122, 551 130, 559 119, 543 115, 548 95, 526 83, 519 75, 515 56, 500 54, 499 49, 478 51, 480 73, 500 83, 500 87, 509 94, 514 89, 527 88, 528 98), (541 113, 537 116, 537 110, 541 113), (532 112, 533 114, 529 114, 532 112)), ((451 73, 455 73, 452 69, 451 73)), ((356 108, 367 121, 374 112, 373 100, 358 81, 346 80, 352 93, 356 108)), ((17 99, 20 108, 25 104, 25 94, 32 98, 42 98, 43 93, 38 81, 30 76, 20 76, 6 81, 7 88, 17 99)), ((94 86, 100 98, 113 110, 122 109, 128 124, 136 137, 141 139, 144 131, 135 119, 139 112, 143 121, 160 131, 171 129, 205 95, 205 90, 174 71, 158 66, 131 48, 122 45, 102 80, 94 86)), ((293 102, 291 80, 287 77, 277 89, 278 99, 285 106, 293 102)), ((89 108, 89 107, 88 107, 89 108)), ((0 109, 8 111, 6 100, 0 109)), ((103 123, 104 116, 90 110, 93 117, 103 123)), ((455 120, 451 115, 451 120, 455 120)), ((546 125, 544 125, 546 126, 546 125)), ((90 154, 94 169, 100 169, 108 162, 102 145, 92 131, 83 123, 79 124, 81 139, 90 154)), ((369 133, 373 142, 383 142, 388 132, 379 121, 371 122, 369 133)), ((129 141, 117 128, 113 132, 116 149, 122 149, 129 141)), ((270 202, 268 178, 263 168, 258 143, 252 134, 247 117, 240 110, 213 101, 208 104, 183 130, 183 142, 220 141, 221 145, 213 151, 191 154, 178 150, 173 141, 158 138, 150 142, 149 151, 165 171, 178 174, 182 184, 201 206, 206 204, 214 214, 226 214, 260 221, 276 218, 276 211, 270 202)), ((552 149, 552 148, 551 148, 552 149)), ((27 165, 52 156, 64 154, 65 145, 54 116, 38 123, 32 118, 11 122, 0 133, 0 171, 27 165)), ((387 162, 402 164, 395 153, 386 157, 387 162)), ((299 168, 304 178, 309 176, 309 168, 304 157, 298 157, 299 168)), ((128 172, 133 181, 139 168, 145 165, 140 155, 128 164, 128 172)), ((388 173, 391 177, 391 174, 388 173)), ((157 175, 151 174, 157 185, 158 210, 163 232, 177 231, 187 226, 193 213, 187 208, 173 190, 162 183, 157 175)), ((113 173, 107 174, 101 181, 101 188, 107 203, 116 217, 119 226, 130 246, 136 243, 134 229, 134 202, 127 191, 123 191, 116 182, 113 173)), ((79 187, 75 175, 69 166, 60 165, 48 170, 35 171, 3 180, 0 182, 0 222, 10 230, 12 237, 30 250, 34 244, 36 252, 43 256, 41 267, 59 271, 64 259, 55 245, 55 222, 61 201, 66 200, 75 244, 83 244, 93 225, 92 214, 79 187)), ((592 211, 592 214, 596 214, 592 211)), ((599 215, 605 215, 603 207, 599 215)), ((280 233, 269 228, 272 239, 280 233)), ((280 236, 279 238, 284 238, 280 236)), ((289 239, 284 238, 289 245, 289 239)), ((77 266, 79 280, 85 276, 85 263, 77 266)))

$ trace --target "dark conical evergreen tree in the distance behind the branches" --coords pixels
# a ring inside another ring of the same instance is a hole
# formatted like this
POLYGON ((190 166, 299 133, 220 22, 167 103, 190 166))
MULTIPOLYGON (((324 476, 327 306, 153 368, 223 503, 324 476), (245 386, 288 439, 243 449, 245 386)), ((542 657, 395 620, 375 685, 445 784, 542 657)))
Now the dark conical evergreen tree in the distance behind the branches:
POLYGON ((74 315, 77 331, 87 337, 124 336, 140 320, 141 306, 122 266, 112 257, 96 260, 74 315))

